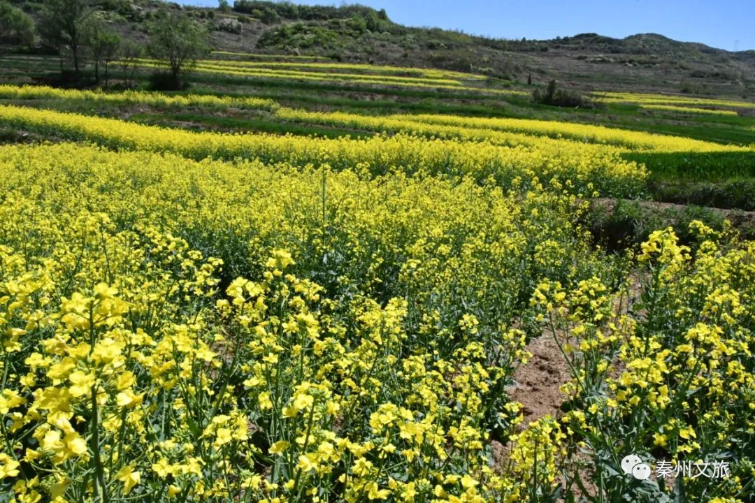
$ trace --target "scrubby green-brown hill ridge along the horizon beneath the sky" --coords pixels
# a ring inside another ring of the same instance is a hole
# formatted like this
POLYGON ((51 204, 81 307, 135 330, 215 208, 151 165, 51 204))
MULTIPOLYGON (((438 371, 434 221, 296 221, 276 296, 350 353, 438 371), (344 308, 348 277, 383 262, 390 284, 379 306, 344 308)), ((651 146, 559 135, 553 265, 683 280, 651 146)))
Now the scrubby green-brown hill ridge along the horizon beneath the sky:
MULTIPOLYGON (((12 3, 33 16, 44 2, 12 3)), ((97 3, 122 35, 137 40, 146 38, 144 22, 164 5, 158 0, 97 3)), ((402 26, 390 20, 390 13, 362 5, 236 0, 230 7, 227 11, 183 10, 212 27, 214 45, 220 51, 430 66, 482 72, 520 83, 530 76, 535 84, 556 78, 584 89, 755 96, 755 51, 729 52, 655 33, 627 38, 582 33, 553 40, 509 40, 402 26)))

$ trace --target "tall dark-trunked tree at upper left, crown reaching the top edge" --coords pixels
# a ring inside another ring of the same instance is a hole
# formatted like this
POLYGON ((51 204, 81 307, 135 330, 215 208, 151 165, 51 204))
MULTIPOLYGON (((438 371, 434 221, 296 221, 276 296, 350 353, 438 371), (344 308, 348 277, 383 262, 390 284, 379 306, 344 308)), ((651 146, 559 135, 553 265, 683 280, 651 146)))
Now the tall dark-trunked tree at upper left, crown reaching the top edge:
POLYGON ((54 48, 69 48, 77 77, 84 41, 82 26, 93 13, 91 0, 45 0, 42 8, 40 31, 43 37, 54 48))

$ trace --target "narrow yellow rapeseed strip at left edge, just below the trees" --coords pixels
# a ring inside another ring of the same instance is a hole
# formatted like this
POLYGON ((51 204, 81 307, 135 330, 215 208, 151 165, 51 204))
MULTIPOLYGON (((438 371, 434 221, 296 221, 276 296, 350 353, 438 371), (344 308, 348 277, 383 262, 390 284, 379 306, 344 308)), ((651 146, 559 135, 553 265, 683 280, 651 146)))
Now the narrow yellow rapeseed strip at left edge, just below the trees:
POLYGON ((48 86, 0 85, 0 100, 77 100, 107 103, 134 103, 149 106, 183 108, 196 106, 208 109, 274 110, 278 103, 255 97, 212 96, 202 94, 168 95, 156 92, 125 90, 106 93, 102 90, 60 89, 48 86))

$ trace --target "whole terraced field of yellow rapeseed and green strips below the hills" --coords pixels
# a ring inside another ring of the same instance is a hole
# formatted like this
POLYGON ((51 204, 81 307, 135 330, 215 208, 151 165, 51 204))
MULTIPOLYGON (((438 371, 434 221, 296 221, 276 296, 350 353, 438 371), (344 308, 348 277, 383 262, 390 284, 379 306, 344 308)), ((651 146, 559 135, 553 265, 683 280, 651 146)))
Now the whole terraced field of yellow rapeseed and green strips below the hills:
POLYGON ((0 501, 753 501, 752 103, 213 57, 0 61, 0 501))

